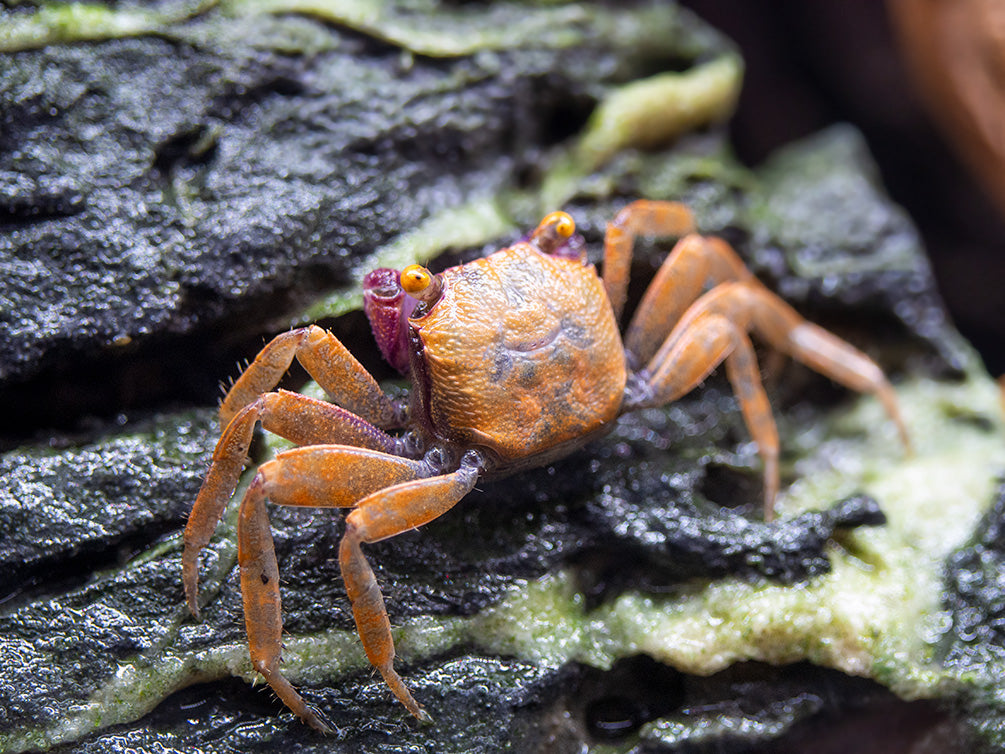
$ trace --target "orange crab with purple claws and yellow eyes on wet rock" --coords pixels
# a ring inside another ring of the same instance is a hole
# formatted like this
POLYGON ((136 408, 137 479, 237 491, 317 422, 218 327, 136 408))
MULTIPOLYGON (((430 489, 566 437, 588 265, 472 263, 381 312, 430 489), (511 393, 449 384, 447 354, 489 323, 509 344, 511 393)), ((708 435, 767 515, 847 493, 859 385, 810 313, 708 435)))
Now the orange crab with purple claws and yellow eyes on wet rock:
POLYGON ((240 505, 238 561, 254 669, 313 727, 327 731, 279 670, 279 572, 265 502, 353 509, 339 564, 367 657, 408 711, 429 716, 394 670, 380 587, 361 545, 442 516, 482 478, 548 463, 617 417, 693 390, 719 364, 764 463, 765 515, 779 488, 778 432, 761 384, 756 334, 847 387, 874 393, 907 432, 896 397, 868 357, 806 322, 723 240, 693 232, 681 204, 636 201, 607 227, 604 276, 565 212, 526 239, 433 274, 371 272, 367 315, 387 360, 411 377, 395 401, 333 335, 311 326, 274 338, 220 407, 225 427, 185 530, 185 594, 198 614, 199 553, 233 495, 256 423, 299 445, 262 463, 240 505), (624 307, 636 234, 682 236, 632 317, 624 307), (296 358, 333 402, 270 392, 296 358), (405 430, 397 435, 388 430, 405 430))

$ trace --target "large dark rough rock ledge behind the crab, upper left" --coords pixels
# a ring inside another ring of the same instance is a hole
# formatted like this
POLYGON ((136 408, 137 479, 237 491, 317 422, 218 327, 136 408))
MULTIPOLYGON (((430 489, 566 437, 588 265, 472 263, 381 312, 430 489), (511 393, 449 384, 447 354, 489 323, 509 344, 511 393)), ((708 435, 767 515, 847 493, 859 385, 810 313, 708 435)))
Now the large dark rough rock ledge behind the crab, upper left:
MULTIPOLYGON (((0 11, 15 50, 0 59, 0 380, 12 428, 205 389, 165 368, 166 343, 184 359, 179 337, 207 328, 229 331, 218 349, 258 337, 349 282, 388 239, 533 177, 603 87, 710 50, 686 37, 656 44, 689 23, 673 13, 639 11, 625 27, 606 10, 389 6, 389 28, 443 27, 444 52, 413 54, 321 6, 226 3, 162 20, 190 6, 163 4, 147 19, 154 33, 42 49, 27 35, 17 47, 29 9, 0 11), (479 46, 475 30, 498 16, 526 35, 479 46), (457 40, 463 54, 449 51, 457 40), (138 349, 158 380, 127 375, 124 386, 92 368, 138 349), (44 404, 18 400, 29 378, 46 379, 44 404)), ((87 22, 72 6, 48 20, 70 38, 99 36, 87 22)), ((235 359, 199 355, 216 374, 235 359)))

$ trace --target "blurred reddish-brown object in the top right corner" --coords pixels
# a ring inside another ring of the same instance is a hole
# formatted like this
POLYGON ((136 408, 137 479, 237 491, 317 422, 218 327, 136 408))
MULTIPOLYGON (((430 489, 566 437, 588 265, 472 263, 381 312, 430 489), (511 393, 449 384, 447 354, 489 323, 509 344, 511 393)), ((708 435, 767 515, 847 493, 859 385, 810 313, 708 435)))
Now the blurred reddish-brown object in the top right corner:
POLYGON ((1005 213, 1005 3, 887 0, 936 124, 1005 213))

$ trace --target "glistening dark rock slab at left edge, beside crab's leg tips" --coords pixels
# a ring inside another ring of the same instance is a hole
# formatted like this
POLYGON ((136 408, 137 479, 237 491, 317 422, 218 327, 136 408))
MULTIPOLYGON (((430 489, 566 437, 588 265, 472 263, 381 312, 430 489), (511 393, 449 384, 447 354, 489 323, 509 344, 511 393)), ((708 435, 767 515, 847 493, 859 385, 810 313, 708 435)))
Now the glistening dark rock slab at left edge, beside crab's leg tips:
POLYGON ((7 600, 57 573, 81 579, 182 526, 199 492, 210 410, 147 419, 92 443, 26 447, 0 461, 0 592, 7 600), (118 552, 117 552, 118 551, 118 552))

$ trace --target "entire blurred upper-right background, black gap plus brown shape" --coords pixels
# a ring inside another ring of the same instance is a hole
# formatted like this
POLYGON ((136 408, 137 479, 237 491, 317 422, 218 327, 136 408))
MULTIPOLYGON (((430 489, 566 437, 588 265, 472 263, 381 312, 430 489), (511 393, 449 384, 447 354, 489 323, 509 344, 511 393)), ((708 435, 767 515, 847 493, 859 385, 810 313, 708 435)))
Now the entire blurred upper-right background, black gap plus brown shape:
POLYGON ((747 63, 740 158, 835 122, 865 135, 928 246, 947 306, 1005 373, 1005 3, 682 0, 747 63))

